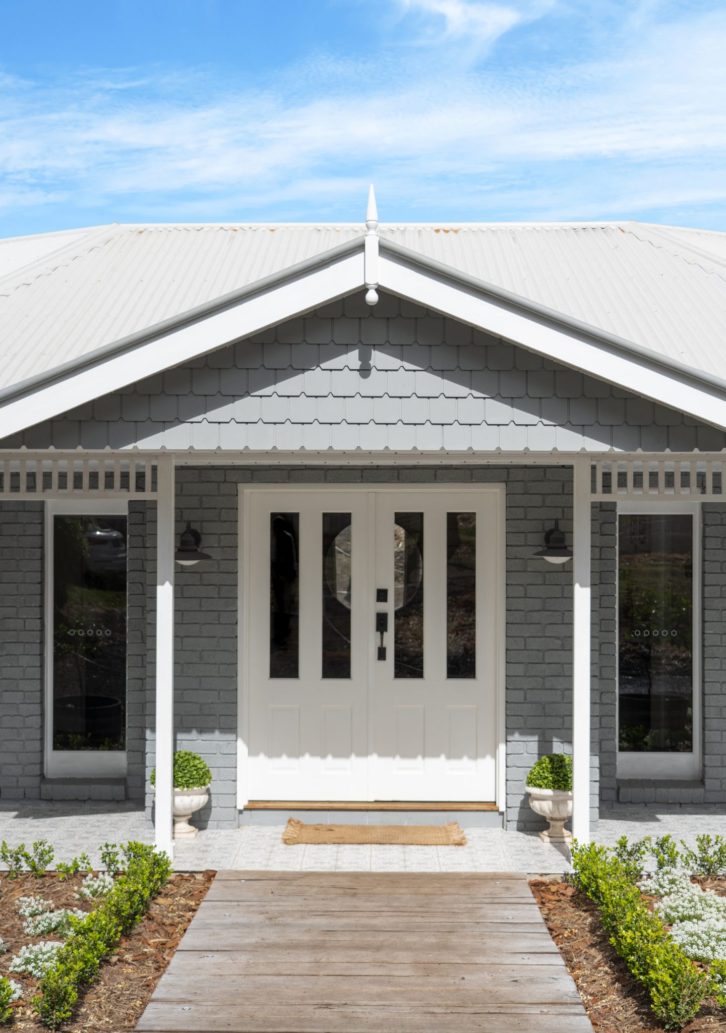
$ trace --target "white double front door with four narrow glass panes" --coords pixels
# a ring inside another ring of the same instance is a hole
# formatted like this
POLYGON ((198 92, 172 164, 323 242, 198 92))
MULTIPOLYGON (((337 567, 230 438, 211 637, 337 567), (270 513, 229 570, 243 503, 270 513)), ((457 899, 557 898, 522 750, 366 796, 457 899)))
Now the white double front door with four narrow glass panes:
POLYGON ((494 801, 500 489, 242 494, 246 797, 494 801))

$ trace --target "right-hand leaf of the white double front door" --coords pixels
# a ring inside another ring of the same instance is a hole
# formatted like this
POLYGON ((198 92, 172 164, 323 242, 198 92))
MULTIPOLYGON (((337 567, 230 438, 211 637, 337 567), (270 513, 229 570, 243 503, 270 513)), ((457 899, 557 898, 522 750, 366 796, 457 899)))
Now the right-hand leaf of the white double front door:
POLYGON ((376 609, 392 634, 374 660, 374 800, 495 799, 497 527, 491 493, 377 495, 375 588, 391 601, 376 609))

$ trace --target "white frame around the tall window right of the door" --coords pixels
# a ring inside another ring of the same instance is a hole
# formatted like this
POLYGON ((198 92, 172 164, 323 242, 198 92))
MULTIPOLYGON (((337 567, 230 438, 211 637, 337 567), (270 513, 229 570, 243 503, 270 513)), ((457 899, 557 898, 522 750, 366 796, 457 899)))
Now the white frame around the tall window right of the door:
POLYGON ((619 502, 621 513, 689 513, 693 521, 693 751, 691 753, 631 753, 621 752, 620 741, 620 520, 615 528, 615 746, 618 749, 618 778, 649 778, 663 781, 673 779, 700 779, 702 775, 702 710, 701 710, 701 507, 694 502, 619 502))

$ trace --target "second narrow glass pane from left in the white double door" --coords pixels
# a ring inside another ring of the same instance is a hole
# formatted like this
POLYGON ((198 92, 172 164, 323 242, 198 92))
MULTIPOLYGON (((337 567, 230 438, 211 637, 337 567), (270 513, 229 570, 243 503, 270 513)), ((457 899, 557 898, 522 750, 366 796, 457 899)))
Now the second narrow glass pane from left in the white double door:
POLYGON ((322 677, 350 678, 350 513, 322 514, 322 677))

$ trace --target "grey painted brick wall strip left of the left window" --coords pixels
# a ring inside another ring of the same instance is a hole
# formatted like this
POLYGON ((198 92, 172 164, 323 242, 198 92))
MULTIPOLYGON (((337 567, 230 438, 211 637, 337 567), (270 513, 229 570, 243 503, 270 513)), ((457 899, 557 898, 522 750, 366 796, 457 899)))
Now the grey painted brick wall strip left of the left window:
POLYGON ((43 505, 0 503, 0 797, 37 800, 43 772, 43 505))

